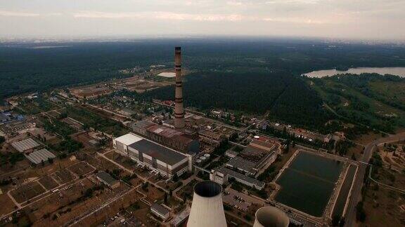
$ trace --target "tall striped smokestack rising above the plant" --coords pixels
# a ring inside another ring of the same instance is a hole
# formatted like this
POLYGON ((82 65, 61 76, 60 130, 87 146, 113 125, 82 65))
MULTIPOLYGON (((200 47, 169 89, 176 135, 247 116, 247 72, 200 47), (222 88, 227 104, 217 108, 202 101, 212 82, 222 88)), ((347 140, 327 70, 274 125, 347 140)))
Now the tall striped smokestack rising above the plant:
POLYGON ((176 70, 174 128, 183 130, 186 123, 184 123, 183 84, 181 81, 181 47, 179 46, 174 48, 174 69, 176 70))

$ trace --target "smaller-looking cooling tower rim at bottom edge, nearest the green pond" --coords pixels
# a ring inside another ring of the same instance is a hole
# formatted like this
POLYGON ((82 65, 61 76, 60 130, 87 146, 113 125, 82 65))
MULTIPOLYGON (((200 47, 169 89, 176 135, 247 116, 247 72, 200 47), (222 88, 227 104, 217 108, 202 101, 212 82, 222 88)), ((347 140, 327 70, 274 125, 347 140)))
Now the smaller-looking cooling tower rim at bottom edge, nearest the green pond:
POLYGON ((257 209, 253 227, 287 227, 290 224, 287 214, 276 207, 257 209))

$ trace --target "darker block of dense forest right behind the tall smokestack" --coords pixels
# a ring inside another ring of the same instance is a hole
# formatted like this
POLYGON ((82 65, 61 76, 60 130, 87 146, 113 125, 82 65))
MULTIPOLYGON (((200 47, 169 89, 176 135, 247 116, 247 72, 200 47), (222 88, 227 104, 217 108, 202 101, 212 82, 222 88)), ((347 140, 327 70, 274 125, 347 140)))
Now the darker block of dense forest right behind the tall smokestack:
MULTIPOLYGON (((246 71, 243 73, 197 72, 186 77, 184 104, 268 114, 308 128, 328 121, 322 99, 300 78, 287 71, 246 71)), ((174 99, 174 87, 146 92, 145 97, 174 99)))

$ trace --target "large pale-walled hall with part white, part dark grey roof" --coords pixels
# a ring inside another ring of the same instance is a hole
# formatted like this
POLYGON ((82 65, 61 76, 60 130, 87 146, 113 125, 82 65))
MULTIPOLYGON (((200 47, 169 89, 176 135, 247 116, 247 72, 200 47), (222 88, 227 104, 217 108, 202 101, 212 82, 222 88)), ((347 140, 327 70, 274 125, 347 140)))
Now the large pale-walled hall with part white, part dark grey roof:
POLYGON ((113 146, 136 163, 146 165, 163 176, 180 176, 191 171, 191 156, 144 139, 132 133, 113 139, 113 146))

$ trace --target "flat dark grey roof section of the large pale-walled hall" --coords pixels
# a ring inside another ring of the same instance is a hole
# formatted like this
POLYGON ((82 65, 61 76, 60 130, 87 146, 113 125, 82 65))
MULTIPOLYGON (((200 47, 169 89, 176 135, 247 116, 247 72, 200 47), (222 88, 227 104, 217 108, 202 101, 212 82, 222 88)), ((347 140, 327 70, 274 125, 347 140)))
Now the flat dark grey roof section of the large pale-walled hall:
POLYGON ((154 142, 150 142, 146 139, 141 139, 138 142, 134 142, 133 144, 129 145, 129 147, 141 151, 141 153, 145 153, 148 156, 156 158, 164 163, 169 165, 174 165, 179 163, 187 156, 182 155, 181 153, 177 153, 176 151, 172 151, 171 149, 167 149, 165 146, 160 146, 159 144, 155 144, 154 142))

